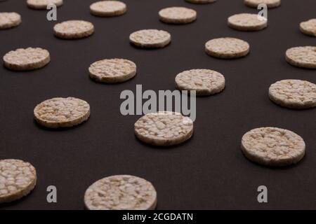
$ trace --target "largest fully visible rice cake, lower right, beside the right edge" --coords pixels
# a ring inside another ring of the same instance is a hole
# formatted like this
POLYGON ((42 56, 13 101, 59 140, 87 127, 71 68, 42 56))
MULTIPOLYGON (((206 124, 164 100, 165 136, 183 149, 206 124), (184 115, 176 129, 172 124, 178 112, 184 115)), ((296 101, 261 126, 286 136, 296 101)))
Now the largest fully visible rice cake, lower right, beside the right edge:
POLYGON ((305 155, 305 142, 298 134, 277 127, 260 127, 242 137, 242 152, 252 162, 284 167, 305 155))

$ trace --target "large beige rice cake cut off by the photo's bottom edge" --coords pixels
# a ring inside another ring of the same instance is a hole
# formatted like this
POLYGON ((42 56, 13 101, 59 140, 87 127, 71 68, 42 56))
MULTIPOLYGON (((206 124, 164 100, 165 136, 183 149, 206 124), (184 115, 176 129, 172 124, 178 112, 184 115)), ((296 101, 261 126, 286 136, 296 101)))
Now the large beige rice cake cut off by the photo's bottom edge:
POLYGON ((152 183, 140 177, 109 176, 88 187, 84 204, 89 210, 154 210, 157 192, 152 183))

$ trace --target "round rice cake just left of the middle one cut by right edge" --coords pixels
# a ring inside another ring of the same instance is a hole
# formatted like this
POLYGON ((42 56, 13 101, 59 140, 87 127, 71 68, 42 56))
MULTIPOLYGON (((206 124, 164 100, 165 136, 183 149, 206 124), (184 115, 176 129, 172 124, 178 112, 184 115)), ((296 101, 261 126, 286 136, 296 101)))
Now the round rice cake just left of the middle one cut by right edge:
POLYGON ((205 51, 212 57, 232 59, 244 57, 249 53, 249 43, 238 38, 215 38, 205 44, 205 51))

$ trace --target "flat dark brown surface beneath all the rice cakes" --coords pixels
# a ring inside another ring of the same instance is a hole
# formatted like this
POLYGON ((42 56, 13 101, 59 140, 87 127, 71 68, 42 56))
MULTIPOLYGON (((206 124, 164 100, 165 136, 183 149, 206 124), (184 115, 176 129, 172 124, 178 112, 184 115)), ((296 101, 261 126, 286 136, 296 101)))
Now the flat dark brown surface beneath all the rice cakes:
POLYGON ((84 192, 94 181, 113 174, 133 174, 157 188, 157 209, 316 209, 315 110, 294 111, 268 99, 277 80, 298 78, 316 83, 316 72, 290 66, 287 48, 315 45, 301 34, 299 22, 315 18, 315 0, 287 0, 269 11, 269 27, 258 32, 235 31, 228 16, 251 12, 242 0, 218 0, 195 5, 183 0, 124 0, 128 13, 117 18, 89 14, 93 2, 65 0, 58 22, 93 22, 96 33, 78 41, 53 36, 55 22, 45 10, 31 10, 25 1, 0 3, 0 11, 16 11, 22 25, 0 31, 0 55, 15 48, 46 48, 51 63, 37 71, 0 68, 0 158, 31 162, 38 172, 37 188, 29 197, 1 209, 84 209, 84 192), (187 6, 198 12, 190 25, 165 25, 157 18, 166 6, 187 6), (171 45, 162 50, 139 50, 129 44, 138 29, 165 29, 171 45), (248 41, 251 54, 221 60, 204 53, 211 38, 233 36, 248 41), (138 76, 119 85, 103 85, 88 78, 88 66, 103 58, 123 57, 138 65, 138 76), (177 73, 186 69, 215 69, 225 75, 224 92, 197 99, 195 135, 174 148, 152 148, 133 135, 139 116, 121 116, 122 90, 173 90, 177 73), (79 97, 91 104, 91 118, 71 130, 45 130, 33 121, 33 109, 51 97, 79 97), (294 167, 270 169, 249 162, 239 144, 255 127, 292 130, 305 139, 307 155, 294 167), (58 203, 46 202, 46 187, 58 188, 58 203), (258 204, 256 189, 268 186, 268 204, 258 204))

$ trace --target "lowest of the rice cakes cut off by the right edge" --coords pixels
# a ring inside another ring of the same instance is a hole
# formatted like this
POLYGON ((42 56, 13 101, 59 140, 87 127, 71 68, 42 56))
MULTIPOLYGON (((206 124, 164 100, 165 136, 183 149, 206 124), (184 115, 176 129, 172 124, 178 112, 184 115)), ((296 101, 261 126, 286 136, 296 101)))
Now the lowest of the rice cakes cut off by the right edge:
POLYGON ((290 109, 312 108, 316 106, 316 85, 305 80, 280 80, 270 86, 269 97, 290 109))

